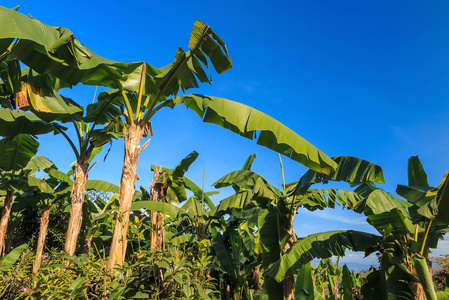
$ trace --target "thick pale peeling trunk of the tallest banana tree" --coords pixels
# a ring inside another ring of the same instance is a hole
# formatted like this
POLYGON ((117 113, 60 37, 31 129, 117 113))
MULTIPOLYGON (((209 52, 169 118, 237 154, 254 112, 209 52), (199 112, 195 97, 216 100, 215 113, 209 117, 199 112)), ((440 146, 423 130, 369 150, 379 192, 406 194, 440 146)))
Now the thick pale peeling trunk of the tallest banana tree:
POLYGON ((120 197, 118 215, 115 221, 112 236, 111 250, 109 251, 108 269, 116 265, 121 266, 125 260, 127 246, 127 232, 131 202, 137 181, 137 163, 140 154, 140 140, 144 130, 141 126, 131 124, 123 129, 125 139, 125 158, 123 161, 122 178, 120 179, 120 197))

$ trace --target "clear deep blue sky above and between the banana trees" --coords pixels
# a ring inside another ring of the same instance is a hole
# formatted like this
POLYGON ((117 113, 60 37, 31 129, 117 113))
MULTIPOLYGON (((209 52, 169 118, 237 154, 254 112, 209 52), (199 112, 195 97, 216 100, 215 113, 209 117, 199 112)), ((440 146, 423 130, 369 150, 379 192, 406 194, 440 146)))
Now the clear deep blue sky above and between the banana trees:
MULTIPOLYGON (((177 47, 187 49, 195 20, 226 42, 234 68, 213 74, 195 93, 257 108, 281 121, 329 156, 352 155, 384 168, 394 193, 407 183, 407 160, 419 155, 429 183, 449 168, 449 2, 447 1, 21 1, 20 12, 72 30, 94 52, 125 62, 162 67, 177 47)), ((2 5, 16 6, 5 1, 2 5)), ((87 105, 94 88, 66 96, 87 105)), ((63 93, 64 94, 64 93, 63 93)), ((161 111, 155 135, 139 161, 137 186, 148 187, 151 164, 174 167, 196 150, 187 175, 206 187, 257 154, 253 170, 282 184, 278 155, 184 107, 161 111)), ((61 137, 42 137, 40 154, 66 170, 75 160, 61 137)), ((118 184, 123 143, 90 173, 118 184)), ((286 181, 307 169, 283 159, 286 181)), ((343 187, 346 187, 343 185, 343 187)), ((347 187, 349 188, 349 187, 347 187)), ((212 188, 211 188, 212 189, 212 188)), ((219 201, 229 192, 215 197, 219 201)), ((303 212, 299 236, 357 229, 373 232, 363 216, 340 209, 303 212)), ((449 249, 447 243, 442 244, 449 249)), ((442 247, 442 249, 444 248, 442 247)), ((355 257, 359 260, 360 257, 355 257)), ((374 259, 371 259, 371 262, 374 259)))

